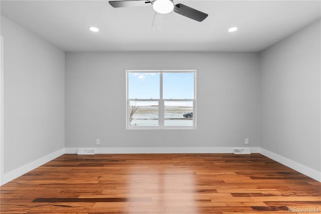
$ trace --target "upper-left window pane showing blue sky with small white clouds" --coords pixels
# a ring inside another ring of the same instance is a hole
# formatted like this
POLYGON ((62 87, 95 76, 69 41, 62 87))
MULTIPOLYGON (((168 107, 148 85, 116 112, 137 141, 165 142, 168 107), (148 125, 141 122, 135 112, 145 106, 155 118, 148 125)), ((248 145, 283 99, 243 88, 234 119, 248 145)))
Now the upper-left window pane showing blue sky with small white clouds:
POLYGON ((159 73, 128 73, 129 99, 159 99, 159 73))

